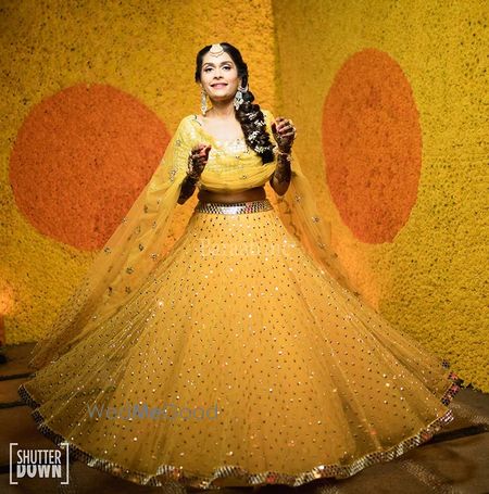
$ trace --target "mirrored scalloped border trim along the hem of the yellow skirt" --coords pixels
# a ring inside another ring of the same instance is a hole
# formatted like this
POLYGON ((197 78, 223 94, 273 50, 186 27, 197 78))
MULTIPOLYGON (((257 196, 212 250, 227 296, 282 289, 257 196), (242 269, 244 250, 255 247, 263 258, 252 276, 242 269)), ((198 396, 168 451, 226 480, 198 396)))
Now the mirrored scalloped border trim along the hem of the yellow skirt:
MULTIPOLYGON (((440 397, 440 401, 443 405, 449 405, 449 403, 453 400, 460 390, 459 384, 462 383, 462 380, 459 379, 454 372, 450 372, 448 379, 452 382, 444 391, 443 395, 440 397)), ((72 458, 82 460, 89 467, 97 468, 98 470, 111 473, 112 476, 122 478, 129 482, 150 486, 179 484, 202 490, 221 489, 222 485, 218 485, 218 481, 229 478, 233 481, 238 480, 240 482, 244 482, 244 485, 283 484, 289 486, 299 486, 316 479, 344 479, 358 473, 371 465, 381 461, 390 461, 403 455, 413 447, 419 446, 421 444, 429 441, 437 431, 453 420, 452 410, 449 409, 442 417, 434 420, 425 429, 422 429, 417 434, 401 441, 396 446, 387 451, 368 453, 349 465, 318 465, 317 467, 314 467, 311 470, 299 474, 288 474, 276 471, 251 473, 242 467, 235 465, 217 467, 209 477, 191 476, 188 474, 183 467, 176 467, 173 465, 161 465, 156 469, 155 474, 148 474, 140 471, 128 470, 123 466, 114 464, 106 459, 96 458, 89 453, 80 449, 75 444, 58 434, 49 426, 46 425, 45 418, 39 413, 39 410, 36 409, 40 406, 39 403, 33 398, 30 393, 24 388, 24 384, 21 384, 17 392, 22 400, 28 406, 34 408, 32 416, 37 423, 38 430, 49 440, 53 441, 58 446, 60 446, 61 443, 68 443, 70 455, 72 458)), ((63 448, 64 446, 60 447, 63 448)), ((236 482, 234 483, 236 484, 236 482)), ((231 485, 226 486, 229 487, 231 485)))

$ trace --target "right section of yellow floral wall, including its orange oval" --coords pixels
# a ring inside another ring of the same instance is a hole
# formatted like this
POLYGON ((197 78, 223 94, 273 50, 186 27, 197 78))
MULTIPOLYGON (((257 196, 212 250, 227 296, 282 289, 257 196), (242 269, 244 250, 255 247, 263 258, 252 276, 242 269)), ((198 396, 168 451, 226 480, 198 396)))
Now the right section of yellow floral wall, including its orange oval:
POLYGON ((394 327, 489 391, 487 2, 273 8, 277 101, 341 258, 394 327))

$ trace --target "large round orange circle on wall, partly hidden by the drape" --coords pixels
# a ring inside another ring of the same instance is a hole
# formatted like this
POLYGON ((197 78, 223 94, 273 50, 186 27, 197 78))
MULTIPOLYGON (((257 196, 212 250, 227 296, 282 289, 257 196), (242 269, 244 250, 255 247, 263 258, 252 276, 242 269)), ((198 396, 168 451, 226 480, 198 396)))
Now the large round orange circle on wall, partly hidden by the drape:
POLYGON ((10 180, 41 233, 103 246, 159 165, 170 136, 136 98, 80 84, 41 101, 18 131, 10 180))

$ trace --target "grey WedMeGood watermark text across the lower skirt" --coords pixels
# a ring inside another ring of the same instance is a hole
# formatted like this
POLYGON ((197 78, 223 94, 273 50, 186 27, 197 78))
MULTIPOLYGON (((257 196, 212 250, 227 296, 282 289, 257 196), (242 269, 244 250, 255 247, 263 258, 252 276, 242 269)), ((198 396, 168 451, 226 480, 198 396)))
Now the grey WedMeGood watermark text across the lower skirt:
POLYGON ((109 420, 123 419, 150 419, 150 420, 216 420, 217 403, 209 408, 197 406, 195 408, 181 407, 173 403, 161 406, 148 406, 147 403, 126 404, 122 406, 105 406, 105 404, 88 405, 90 418, 106 418, 109 420))

